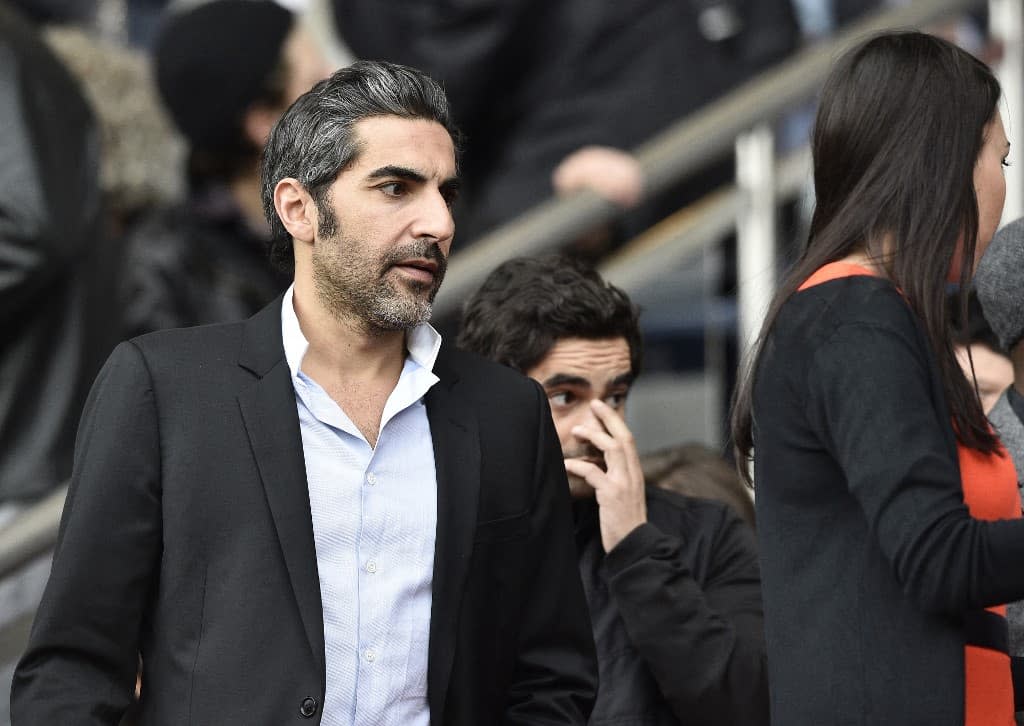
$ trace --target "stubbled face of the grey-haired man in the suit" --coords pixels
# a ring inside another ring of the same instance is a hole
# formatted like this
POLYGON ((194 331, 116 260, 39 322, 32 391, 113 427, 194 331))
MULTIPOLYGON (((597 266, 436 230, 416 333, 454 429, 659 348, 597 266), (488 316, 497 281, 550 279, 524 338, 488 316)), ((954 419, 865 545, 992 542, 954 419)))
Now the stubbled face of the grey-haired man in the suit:
POLYGON ((420 119, 375 116, 354 132, 359 156, 317 206, 313 287, 339 319, 407 330, 429 318, 444 277, 455 147, 443 126, 420 119))

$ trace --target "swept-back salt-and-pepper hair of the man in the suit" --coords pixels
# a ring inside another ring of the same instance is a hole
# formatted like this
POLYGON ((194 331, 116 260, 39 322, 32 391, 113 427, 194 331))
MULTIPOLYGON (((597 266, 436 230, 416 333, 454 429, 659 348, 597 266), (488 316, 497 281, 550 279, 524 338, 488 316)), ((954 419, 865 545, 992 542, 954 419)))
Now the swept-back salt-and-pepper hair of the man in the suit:
POLYGON ((278 266, 290 269, 295 258, 292 238, 273 207, 274 186, 286 177, 297 179, 330 218, 331 184, 359 154, 355 124, 374 116, 437 122, 459 153, 461 135, 444 91, 421 71, 360 60, 319 81, 278 120, 263 151, 263 213, 270 223, 270 259, 278 266))

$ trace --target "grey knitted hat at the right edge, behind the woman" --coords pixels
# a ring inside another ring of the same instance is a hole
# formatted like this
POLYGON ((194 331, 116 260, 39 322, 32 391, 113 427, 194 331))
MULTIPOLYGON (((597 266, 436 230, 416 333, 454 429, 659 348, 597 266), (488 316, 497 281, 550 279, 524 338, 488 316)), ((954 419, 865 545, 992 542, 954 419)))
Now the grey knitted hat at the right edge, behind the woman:
POLYGON ((1002 349, 1024 338, 1024 218, 995 233, 974 273, 974 287, 1002 349))

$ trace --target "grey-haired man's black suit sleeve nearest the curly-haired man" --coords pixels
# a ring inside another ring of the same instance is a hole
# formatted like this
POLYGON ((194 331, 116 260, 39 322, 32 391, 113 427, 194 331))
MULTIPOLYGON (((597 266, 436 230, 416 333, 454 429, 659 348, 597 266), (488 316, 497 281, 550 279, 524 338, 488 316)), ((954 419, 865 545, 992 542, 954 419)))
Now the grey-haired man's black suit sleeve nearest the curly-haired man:
POLYGON ((537 502, 530 516, 536 564, 519 621, 507 726, 586 724, 597 697, 597 656, 577 566, 569 487, 551 412, 536 386, 537 502))

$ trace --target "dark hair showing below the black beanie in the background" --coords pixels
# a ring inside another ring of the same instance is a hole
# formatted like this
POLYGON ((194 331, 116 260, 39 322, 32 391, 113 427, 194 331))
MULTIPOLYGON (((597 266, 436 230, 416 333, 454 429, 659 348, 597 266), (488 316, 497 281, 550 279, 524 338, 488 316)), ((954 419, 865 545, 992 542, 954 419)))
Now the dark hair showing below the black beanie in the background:
MULTIPOLYGON (((279 109, 285 104, 291 63, 282 53, 263 82, 258 95, 248 108, 279 109)), ((253 164, 259 163, 260 146, 245 131, 244 115, 231 122, 232 133, 209 145, 189 145, 185 166, 188 185, 200 188, 210 182, 227 182, 246 174, 253 164)))

